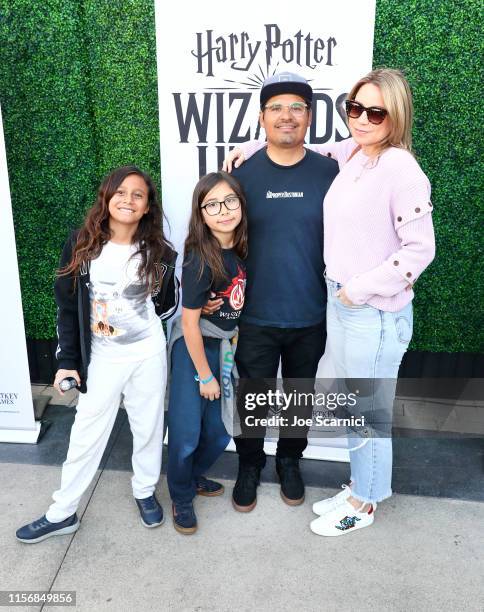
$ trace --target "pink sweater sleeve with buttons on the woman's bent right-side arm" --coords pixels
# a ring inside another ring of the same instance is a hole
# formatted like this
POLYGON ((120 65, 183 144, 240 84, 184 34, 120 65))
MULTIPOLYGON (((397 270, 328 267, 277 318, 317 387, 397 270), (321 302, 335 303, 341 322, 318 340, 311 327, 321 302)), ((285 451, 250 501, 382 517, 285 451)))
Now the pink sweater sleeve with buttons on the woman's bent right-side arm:
POLYGON ((395 182, 390 202, 393 227, 401 246, 382 264, 346 283, 346 294, 354 304, 365 304, 374 295, 391 297, 410 290, 435 256, 428 179, 421 173, 409 183, 405 172, 402 176, 395 182))

